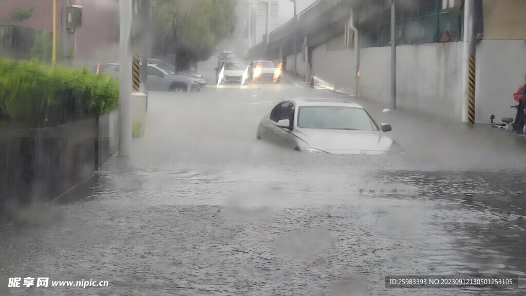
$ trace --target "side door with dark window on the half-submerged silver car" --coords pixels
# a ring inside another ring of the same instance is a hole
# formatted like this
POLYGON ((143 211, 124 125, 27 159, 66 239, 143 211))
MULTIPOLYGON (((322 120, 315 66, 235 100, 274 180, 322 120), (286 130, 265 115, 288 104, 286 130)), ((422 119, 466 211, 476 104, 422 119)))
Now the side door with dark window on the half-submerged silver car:
POLYGON ((281 102, 270 112, 264 137, 280 146, 292 147, 296 145, 296 138, 290 130, 278 126, 278 121, 288 119, 290 126, 294 126, 295 105, 292 102, 281 102))

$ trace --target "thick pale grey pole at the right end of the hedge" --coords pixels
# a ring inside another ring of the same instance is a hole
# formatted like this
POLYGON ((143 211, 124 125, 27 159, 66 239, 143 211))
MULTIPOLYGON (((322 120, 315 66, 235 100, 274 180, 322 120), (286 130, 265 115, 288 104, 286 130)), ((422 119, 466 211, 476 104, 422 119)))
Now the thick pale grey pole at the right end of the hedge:
POLYGON ((131 1, 119 0, 119 155, 131 156, 131 1))

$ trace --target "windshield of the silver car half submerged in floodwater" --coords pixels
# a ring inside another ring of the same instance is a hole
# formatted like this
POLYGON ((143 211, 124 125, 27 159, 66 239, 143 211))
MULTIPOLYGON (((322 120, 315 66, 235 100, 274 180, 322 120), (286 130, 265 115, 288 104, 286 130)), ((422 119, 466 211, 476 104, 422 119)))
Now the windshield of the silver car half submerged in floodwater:
POLYGON ((378 130, 364 109, 341 106, 299 107, 298 127, 323 130, 378 130))

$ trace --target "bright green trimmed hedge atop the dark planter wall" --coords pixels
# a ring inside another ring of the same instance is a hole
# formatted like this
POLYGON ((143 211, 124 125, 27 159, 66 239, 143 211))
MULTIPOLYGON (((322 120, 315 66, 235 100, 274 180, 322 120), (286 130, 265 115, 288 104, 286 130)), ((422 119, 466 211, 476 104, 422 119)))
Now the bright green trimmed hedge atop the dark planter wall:
POLYGON ((106 74, 0 57, 0 111, 10 121, 59 125, 108 113, 118 100, 118 81, 106 74))

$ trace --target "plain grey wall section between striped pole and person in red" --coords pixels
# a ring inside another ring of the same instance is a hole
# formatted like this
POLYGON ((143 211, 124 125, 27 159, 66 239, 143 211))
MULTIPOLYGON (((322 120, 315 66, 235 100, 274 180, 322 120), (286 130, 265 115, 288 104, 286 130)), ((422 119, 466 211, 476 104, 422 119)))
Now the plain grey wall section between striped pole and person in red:
POLYGON ((524 40, 483 40, 477 46, 475 122, 489 123, 491 114, 515 118, 513 93, 526 75, 524 40))

